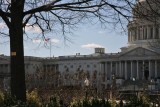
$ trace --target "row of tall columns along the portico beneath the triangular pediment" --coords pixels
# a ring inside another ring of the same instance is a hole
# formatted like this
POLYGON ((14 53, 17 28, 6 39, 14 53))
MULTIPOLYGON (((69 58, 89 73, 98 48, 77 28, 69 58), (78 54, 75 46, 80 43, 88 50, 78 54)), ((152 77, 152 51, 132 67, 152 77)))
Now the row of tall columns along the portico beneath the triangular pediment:
POLYGON ((117 78, 125 80, 133 77, 138 80, 143 80, 144 71, 149 71, 149 79, 157 78, 158 74, 157 60, 134 60, 134 61, 109 61, 101 63, 101 72, 105 72, 107 80, 111 80, 111 75, 115 74, 117 78))

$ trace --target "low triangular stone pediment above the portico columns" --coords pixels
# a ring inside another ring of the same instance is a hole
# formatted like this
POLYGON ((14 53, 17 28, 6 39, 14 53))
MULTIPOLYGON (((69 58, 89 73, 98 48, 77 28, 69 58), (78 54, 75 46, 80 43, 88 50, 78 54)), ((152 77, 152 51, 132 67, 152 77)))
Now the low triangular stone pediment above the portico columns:
POLYGON ((156 55, 160 54, 150 49, 137 47, 135 49, 122 53, 120 56, 156 56, 156 55))

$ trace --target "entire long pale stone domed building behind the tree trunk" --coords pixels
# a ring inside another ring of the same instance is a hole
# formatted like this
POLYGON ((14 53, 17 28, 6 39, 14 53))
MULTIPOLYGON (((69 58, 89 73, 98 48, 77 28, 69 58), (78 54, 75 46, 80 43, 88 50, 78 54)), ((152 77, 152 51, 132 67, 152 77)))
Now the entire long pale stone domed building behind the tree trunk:
MULTIPOLYGON (((139 3, 147 7, 144 0, 139 3)), ((135 5, 133 20, 128 24, 128 46, 122 47, 121 52, 105 53, 104 48, 95 48, 95 53, 90 55, 26 56, 27 88, 83 87, 87 78, 90 87, 99 90, 111 89, 113 80, 120 90, 131 90, 129 86, 133 81, 137 90, 146 84, 148 88, 160 89, 160 27, 158 22, 137 15, 137 8, 145 14, 150 13, 139 3, 135 5)), ((9 56, 1 55, 0 59, 0 77, 4 80, 9 77, 9 56)))

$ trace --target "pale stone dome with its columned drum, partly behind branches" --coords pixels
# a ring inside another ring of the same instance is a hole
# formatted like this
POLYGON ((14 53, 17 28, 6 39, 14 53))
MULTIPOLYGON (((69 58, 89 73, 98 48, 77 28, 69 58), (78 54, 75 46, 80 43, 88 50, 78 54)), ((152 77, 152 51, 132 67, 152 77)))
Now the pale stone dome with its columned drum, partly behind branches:
POLYGON ((160 4, 152 1, 149 5, 143 1, 146 0, 139 0, 141 3, 137 3, 133 9, 133 20, 128 24, 128 44, 143 47, 157 46, 157 43, 159 44, 157 41, 160 41, 160 19, 155 13, 159 12, 159 6, 155 5, 160 4))

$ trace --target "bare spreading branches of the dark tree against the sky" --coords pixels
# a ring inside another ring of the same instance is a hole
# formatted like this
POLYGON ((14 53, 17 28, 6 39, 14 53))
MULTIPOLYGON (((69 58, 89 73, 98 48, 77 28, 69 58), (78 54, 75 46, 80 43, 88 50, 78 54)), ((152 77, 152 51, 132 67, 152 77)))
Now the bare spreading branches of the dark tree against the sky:
MULTIPOLYGON (((131 17, 133 2, 119 0, 1 0, 0 16, 11 27, 11 8, 22 6, 22 27, 36 26, 44 33, 61 29, 65 34, 84 20, 119 23, 121 16, 131 17), (17 5, 21 4, 21 5, 17 5), (23 4, 23 5, 22 5, 23 4), (112 19, 112 20, 111 20, 112 19)), ((4 34, 5 32, 1 32, 4 34)))

